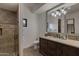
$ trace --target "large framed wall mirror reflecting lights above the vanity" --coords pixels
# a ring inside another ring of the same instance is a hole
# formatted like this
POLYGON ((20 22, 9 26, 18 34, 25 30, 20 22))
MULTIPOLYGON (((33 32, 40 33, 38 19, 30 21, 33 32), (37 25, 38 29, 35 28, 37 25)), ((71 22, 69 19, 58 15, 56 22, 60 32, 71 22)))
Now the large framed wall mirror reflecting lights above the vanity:
POLYGON ((65 34, 79 40, 79 3, 68 3, 46 12, 47 32, 65 34), (76 37, 77 36, 77 37, 76 37))

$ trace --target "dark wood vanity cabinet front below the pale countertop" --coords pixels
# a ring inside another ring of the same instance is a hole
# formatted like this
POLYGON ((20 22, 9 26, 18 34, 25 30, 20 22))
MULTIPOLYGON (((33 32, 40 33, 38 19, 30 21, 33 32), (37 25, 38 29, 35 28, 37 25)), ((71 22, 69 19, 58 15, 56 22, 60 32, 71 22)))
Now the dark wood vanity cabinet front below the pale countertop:
POLYGON ((45 56, 79 56, 79 48, 40 38, 39 52, 45 56))

